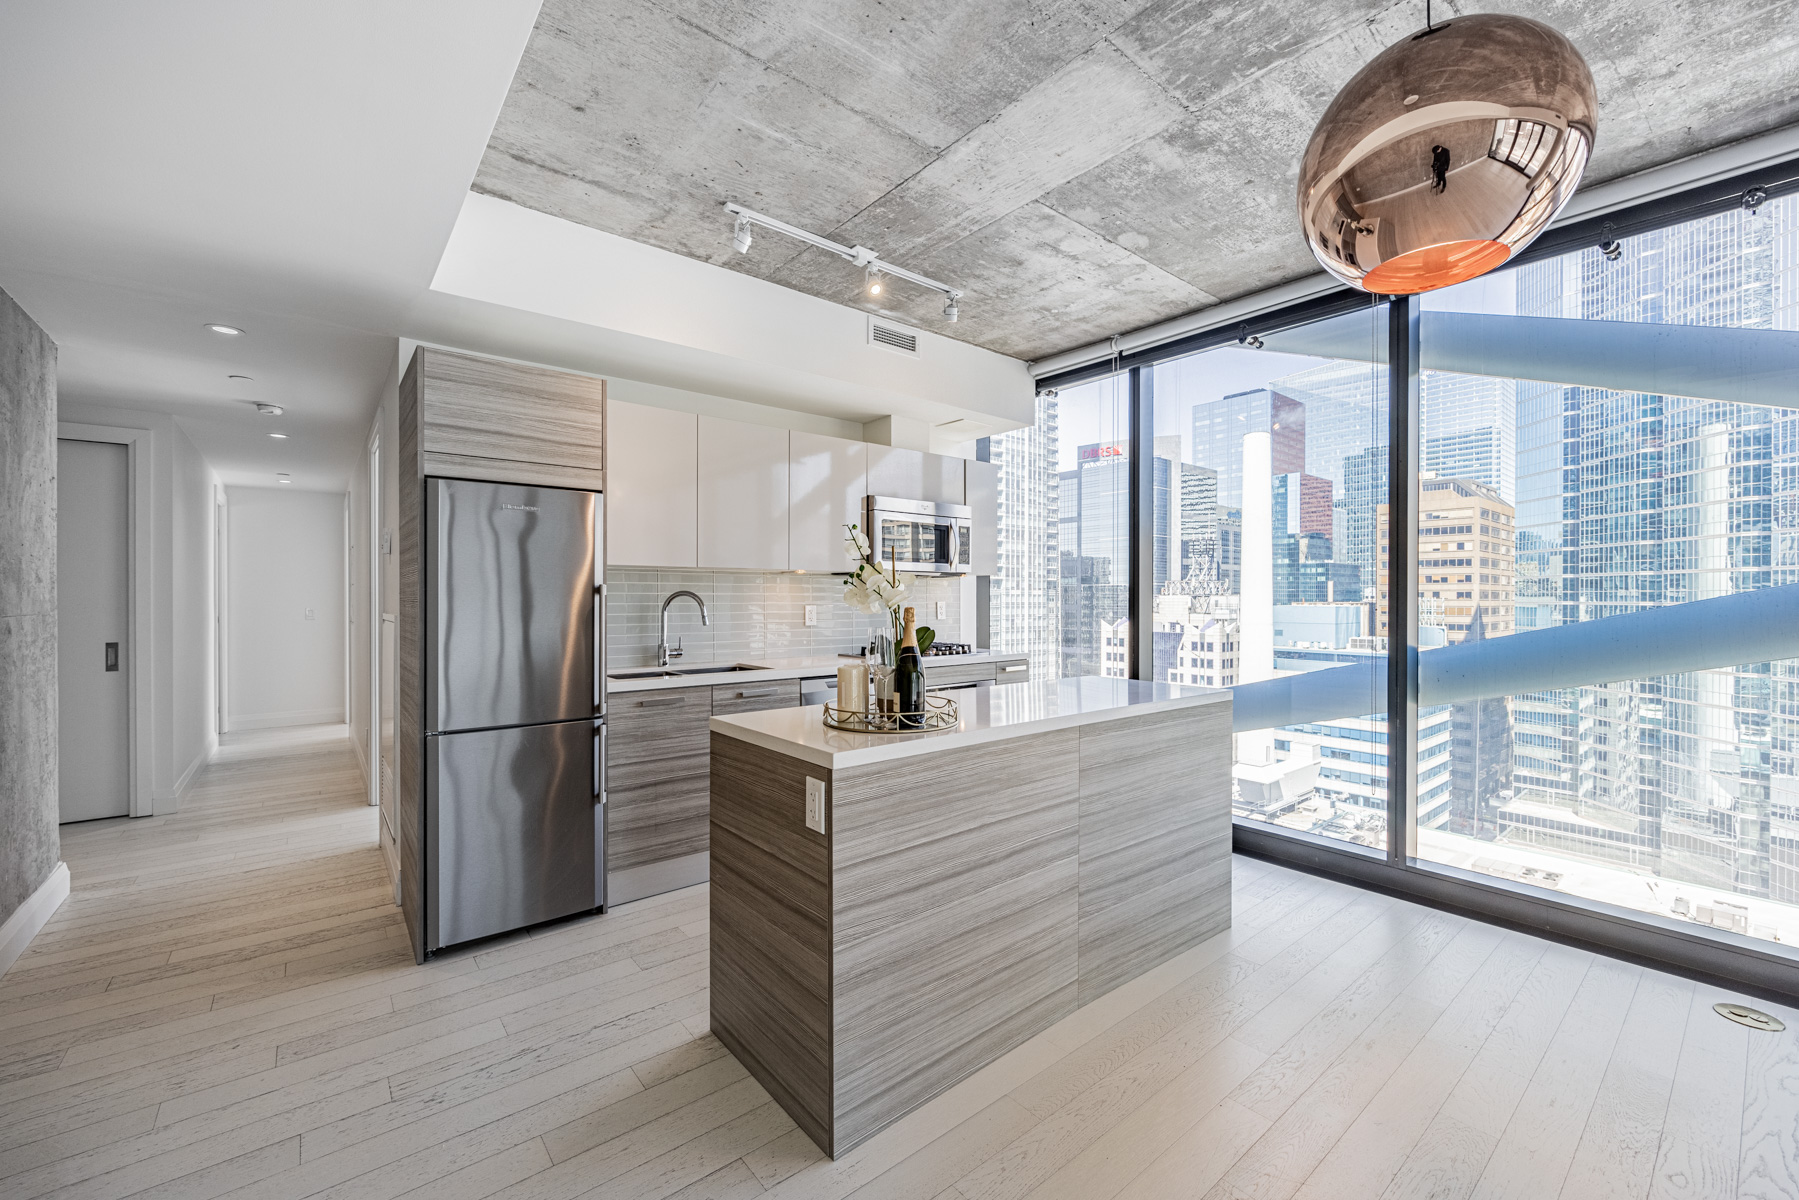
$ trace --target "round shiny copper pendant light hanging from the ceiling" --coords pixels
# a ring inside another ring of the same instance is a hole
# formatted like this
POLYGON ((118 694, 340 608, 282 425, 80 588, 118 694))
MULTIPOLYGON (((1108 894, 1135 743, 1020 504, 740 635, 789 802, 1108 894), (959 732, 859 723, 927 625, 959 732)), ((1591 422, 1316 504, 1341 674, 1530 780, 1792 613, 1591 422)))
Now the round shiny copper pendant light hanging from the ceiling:
POLYGON ((1522 16, 1457 16, 1382 50, 1324 110, 1299 221, 1355 288, 1446 288, 1544 232, 1596 131, 1592 72, 1567 38, 1522 16))

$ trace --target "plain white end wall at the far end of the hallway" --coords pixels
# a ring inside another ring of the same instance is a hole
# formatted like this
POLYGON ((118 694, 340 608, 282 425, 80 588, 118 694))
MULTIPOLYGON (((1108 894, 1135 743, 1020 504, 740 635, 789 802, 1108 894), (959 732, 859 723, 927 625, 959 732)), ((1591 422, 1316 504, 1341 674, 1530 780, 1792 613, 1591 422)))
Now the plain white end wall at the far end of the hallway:
POLYGON ((225 504, 225 727, 342 721, 344 495, 227 488, 225 504))

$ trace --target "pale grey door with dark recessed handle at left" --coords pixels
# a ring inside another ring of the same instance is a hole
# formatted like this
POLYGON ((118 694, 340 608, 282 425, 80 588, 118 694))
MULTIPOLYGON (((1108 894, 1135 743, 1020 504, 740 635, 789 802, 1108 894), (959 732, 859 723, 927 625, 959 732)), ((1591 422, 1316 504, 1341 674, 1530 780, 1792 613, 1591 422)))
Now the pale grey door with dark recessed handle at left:
POLYGON ((130 448, 56 443, 61 820, 131 811, 130 448))

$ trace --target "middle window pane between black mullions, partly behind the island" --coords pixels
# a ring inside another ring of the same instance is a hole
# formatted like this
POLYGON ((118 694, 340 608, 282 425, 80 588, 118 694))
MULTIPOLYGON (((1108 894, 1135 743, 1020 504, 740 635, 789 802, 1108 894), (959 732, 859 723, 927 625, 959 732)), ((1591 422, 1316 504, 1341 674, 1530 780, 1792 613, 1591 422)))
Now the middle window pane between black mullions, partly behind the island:
POLYGON ((1387 371, 1279 342, 1153 367, 1153 673, 1265 685, 1240 693, 1268 723, 1240 720, 1238 819, 1385 847, 1387 371))

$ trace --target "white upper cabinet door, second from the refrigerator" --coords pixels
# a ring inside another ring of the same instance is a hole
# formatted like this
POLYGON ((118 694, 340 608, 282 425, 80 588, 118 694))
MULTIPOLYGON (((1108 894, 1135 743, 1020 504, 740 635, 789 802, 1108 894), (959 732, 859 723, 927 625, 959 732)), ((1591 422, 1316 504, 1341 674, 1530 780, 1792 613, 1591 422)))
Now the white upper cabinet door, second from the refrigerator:
POLYGON ((788 430, 700 417, 700 567, 788 570, 788 430))

